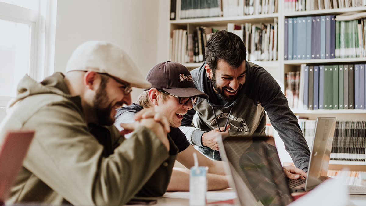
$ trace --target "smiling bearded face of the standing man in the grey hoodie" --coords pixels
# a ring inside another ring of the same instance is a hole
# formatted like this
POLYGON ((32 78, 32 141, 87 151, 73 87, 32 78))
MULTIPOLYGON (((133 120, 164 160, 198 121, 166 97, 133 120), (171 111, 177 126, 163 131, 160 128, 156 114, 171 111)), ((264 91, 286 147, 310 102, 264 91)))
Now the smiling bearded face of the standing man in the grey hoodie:
POLYGON ((225 61, 219 60, 215 72, 208 66, 206 66, 206 72, 209 77, 212 77, 213 89, 224 101, 236 100, 238 91, 245 83, 245 61, 238 68, 232 68, 225 61))

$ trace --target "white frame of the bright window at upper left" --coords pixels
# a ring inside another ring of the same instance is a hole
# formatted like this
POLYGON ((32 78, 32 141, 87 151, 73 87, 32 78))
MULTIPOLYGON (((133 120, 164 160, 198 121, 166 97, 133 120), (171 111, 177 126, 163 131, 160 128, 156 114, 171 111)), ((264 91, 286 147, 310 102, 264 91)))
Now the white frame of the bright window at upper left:
MULTIPOLYGON (((55 25, 52 26, 53 7, 57 0, 39 0, 38 11, 0 1, 0 19, 31 26, 29 76, 40 82, 53 74, 55 25), (41 4, 46 8, 46 17, 41 14, 41 4), (48 22, 46 21, 48 20, 48 22)), ((54 14, 56 16, 56 14, 54 14)), ((7 106, 13 97, 0 96, 0 107, 7 106)))

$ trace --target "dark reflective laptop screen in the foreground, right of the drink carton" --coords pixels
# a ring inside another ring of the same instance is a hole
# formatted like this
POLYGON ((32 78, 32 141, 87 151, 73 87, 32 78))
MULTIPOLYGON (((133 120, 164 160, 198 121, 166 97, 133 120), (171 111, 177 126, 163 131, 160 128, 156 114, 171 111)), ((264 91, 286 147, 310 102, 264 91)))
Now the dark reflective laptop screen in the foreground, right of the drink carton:
POLYGON ((292 202, 272 137, 228 136, 219 144, 241 205, 284 206, 292 202))

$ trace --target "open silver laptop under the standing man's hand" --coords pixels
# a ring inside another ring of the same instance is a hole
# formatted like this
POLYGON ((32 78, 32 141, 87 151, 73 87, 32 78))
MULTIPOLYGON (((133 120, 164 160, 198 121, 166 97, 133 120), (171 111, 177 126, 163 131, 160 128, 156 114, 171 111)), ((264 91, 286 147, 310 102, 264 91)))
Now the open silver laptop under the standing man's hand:
POLYGON ((326 180, 336 127, 335 117, 318 117, 306 180, 289 180, 291 192, 309 191, 326 180))

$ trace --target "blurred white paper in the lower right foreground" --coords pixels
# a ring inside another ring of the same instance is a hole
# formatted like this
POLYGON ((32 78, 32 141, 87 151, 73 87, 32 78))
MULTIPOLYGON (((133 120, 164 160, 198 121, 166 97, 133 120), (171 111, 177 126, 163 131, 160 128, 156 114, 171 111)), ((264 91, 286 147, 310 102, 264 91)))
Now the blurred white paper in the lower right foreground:
POLYGON ((347 186, 341 180, 329 179, 288 206, 346 206, 347 203, 347 186))

